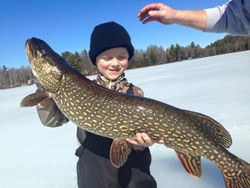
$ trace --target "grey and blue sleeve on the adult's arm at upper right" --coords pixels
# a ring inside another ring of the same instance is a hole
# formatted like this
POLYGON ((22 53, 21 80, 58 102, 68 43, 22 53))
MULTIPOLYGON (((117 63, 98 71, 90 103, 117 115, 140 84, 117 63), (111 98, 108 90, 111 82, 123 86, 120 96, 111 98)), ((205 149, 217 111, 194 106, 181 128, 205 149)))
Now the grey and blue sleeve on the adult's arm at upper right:
POLYGON ((250 1, 231 0, 222 6, 205 9, 207 32, 250 34, 250 1))

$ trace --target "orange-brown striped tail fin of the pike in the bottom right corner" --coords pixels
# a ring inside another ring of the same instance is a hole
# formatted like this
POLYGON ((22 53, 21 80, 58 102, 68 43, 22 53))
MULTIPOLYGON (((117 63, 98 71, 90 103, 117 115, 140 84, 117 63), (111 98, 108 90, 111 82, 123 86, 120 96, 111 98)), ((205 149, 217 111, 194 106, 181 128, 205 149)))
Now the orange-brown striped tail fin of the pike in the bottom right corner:
POLYGON ((250 165, 241 160, 239 164, 243 169, 230 170, 222 172, 227 188, 250 188, 250 165))

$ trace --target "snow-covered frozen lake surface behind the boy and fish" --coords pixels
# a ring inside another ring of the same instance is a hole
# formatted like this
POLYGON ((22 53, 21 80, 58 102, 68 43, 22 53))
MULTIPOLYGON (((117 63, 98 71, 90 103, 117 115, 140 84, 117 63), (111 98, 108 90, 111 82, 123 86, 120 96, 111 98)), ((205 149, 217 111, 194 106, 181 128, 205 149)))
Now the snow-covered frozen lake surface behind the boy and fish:
MULTIPOLYGON (((134 69, 129 81, 145 96, 209 115, 231 133, 229 151, 250 162, 250 51, 134 69)), ((41 125, 35 108, 20 108, 34 86, 0 91, 0 187, 76 188, 76 126, 41 125)), ((150 148, 159 188, 223 188, 219 169, 202 158, 203 177, 194 179, 175 152, 150 148)))

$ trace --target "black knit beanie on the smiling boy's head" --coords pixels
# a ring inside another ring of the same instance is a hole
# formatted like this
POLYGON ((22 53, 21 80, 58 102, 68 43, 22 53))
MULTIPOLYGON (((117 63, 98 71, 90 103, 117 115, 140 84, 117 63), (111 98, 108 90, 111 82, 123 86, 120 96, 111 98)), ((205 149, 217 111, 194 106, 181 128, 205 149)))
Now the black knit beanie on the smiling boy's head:
POLYGON ((128 50, 130 60, 134 55, 134 47, 126 29, 116 22, 107 22, 97 25, 90 39, 89 57, 95 65, 96 57, 105 50, 125 47, 128 50))

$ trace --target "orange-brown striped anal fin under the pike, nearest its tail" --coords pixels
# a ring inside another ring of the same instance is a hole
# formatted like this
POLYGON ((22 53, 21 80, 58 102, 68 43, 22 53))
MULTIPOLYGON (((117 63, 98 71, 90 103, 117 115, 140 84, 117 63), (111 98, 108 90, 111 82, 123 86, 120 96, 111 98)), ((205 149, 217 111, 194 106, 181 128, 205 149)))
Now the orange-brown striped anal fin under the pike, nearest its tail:
POLYGON ((187 173, 194 177, 201 177, 201 156, 192 156, 190 154, 184 154, 179 151, 175 151, 177 157, 179 158, 182 166, 187 171, 187 173))

